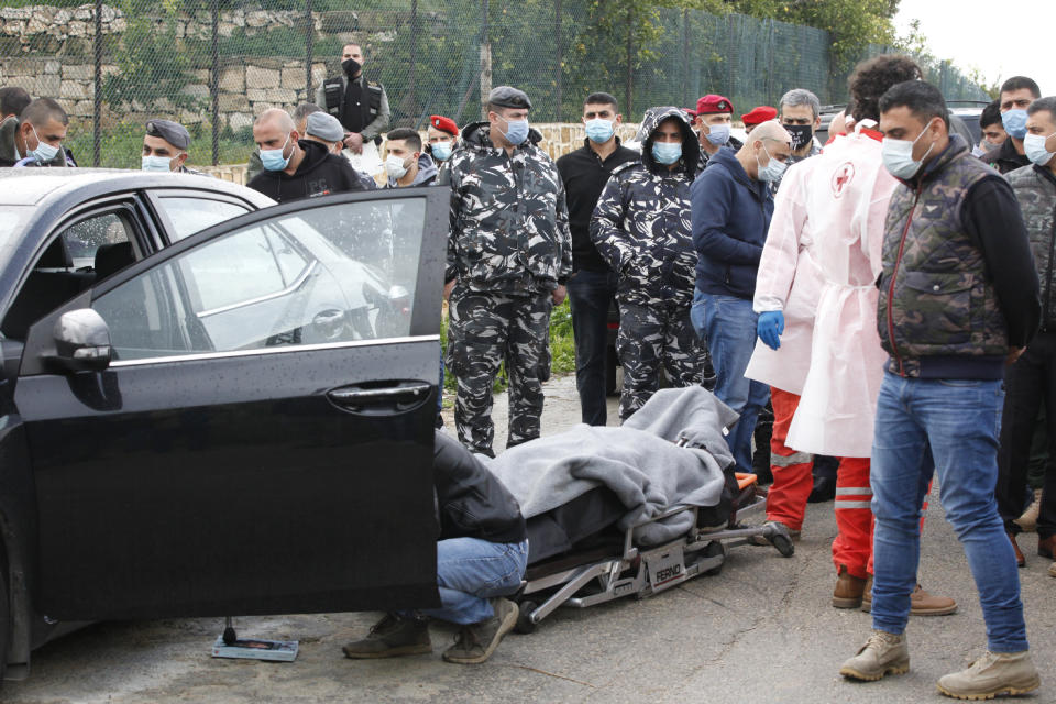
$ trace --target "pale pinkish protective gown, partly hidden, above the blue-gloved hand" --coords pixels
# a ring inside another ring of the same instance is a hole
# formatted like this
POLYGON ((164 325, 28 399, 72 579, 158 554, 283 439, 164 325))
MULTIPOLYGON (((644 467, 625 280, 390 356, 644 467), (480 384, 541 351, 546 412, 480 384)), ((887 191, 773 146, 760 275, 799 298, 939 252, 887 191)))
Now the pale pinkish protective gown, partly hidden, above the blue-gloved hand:
POLYGON ((774 199, 773 218, 759 260, 756 278, 756 312, 784 314, 781 346, 768 348, 756 340, 745 376, 799 396, 811 367, 814 311, 823 276, 814 262, 813 223, 807 219, 806 187, 816 156, 789 167, 774 199))

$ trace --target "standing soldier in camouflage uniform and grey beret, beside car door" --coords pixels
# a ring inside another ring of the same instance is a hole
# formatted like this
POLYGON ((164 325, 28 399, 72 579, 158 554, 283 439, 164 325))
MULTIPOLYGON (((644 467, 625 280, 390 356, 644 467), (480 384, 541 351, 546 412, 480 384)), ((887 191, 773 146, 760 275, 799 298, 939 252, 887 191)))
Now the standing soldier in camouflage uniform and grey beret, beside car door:
POLYGON ((528 127, 528 96, 499 86, 486 107, 487 120, 466 127, 451 156, 444 295, 459 440, 493 455, 492 385, 503 361, 506 447, 539 437, 550 308, 564 300, 572 238, 558 167, 528 127))

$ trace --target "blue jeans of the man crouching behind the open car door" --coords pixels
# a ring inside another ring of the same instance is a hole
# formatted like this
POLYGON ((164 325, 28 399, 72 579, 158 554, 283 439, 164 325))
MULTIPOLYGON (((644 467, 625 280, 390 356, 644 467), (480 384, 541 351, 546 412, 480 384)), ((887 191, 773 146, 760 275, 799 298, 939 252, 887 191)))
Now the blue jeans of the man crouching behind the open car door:
POLYGON ((495 615, 488 600, 520 588, 527 564, 527 540, 510 543, 480 538, 439 540, 440 608, 426 608, 420 613, 462 626, 487 620, 495 615))

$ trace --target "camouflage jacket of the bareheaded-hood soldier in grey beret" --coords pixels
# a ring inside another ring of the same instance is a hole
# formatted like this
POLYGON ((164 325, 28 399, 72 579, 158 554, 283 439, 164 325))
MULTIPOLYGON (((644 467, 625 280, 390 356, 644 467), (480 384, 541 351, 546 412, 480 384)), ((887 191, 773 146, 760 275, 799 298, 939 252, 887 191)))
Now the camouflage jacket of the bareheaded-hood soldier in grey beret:
POLYGON ((492 145, 488 123, 462 131, 451 155, 451 232, 444 280, 471 290, 553 290, 572 273, 572 235, 558 167, 531 130, 512 155, 492 145))

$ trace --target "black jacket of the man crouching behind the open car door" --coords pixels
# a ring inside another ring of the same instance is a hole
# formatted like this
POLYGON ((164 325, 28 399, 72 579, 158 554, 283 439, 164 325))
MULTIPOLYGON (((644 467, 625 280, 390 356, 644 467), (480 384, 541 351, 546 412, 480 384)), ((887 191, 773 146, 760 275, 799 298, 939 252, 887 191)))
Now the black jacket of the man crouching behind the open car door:
POLYGON ((520 542, 528 537, 517 499, 458 440, 437 431, 432 452, 439 539, 520 542))

